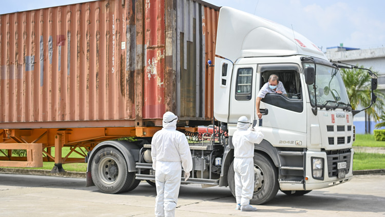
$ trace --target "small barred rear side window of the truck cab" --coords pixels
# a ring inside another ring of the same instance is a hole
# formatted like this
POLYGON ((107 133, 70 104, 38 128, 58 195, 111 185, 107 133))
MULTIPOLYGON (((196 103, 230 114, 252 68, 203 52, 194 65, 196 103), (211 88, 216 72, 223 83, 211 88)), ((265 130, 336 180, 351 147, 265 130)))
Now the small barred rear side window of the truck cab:
POLYGON ((252 98, 253 68, 240 68, 237 72, 235 88, 236 100, 251 100, 252 98))

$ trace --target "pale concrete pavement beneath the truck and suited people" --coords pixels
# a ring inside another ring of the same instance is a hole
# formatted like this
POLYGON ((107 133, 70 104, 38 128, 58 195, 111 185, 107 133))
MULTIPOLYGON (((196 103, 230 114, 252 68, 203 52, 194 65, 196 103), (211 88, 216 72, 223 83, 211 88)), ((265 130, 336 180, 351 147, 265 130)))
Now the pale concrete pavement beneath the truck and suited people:
MULTIPOLYGON (((304 196, 279 192, 257 212, 235 210, 228 188, 182 185, 176 216, 384 216, 385 175, 357 175, 350 182, 304 196)), ((85 179, 0 173, 1 216, 153 216, 156 190, 145 182, 131 192, 104 194, 85 179)))

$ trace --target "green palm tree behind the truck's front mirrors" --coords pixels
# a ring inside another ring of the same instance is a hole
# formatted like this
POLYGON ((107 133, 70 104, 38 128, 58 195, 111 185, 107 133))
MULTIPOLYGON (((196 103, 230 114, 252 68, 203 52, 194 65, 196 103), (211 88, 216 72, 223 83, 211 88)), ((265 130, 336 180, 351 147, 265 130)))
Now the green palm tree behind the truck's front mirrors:
MULTIPOLYGON (((360 66, 360 68, 364 68, 360 66)), ((370 68, 370 70, 372 70, 370 68)), ((373 72, 377 74, 377 72, 373 72)), ((358 105, 368 107, 371 103, 371 77, 369 76, 366 70, 362 69, 341 69, 341 76, 345 86, 347 88, 347 93, 349 97, 350 104, 352 109, 356 110, 358 105)), ((374 121, 379 121, 381 115, 383 115, 382 108, 384 107, 385 95, 381 93, 378 89, 374 90, 374 93, 377 95, 377 101, 367 109, 367 112, 374 121), (377 111, 380 111, 378 113, 377 111)))

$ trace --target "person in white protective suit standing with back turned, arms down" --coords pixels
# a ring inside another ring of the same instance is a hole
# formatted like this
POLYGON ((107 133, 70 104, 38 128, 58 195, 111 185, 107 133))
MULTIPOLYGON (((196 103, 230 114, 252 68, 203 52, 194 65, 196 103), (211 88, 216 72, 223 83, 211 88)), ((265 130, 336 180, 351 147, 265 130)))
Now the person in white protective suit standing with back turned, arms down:
POLYGON ((176 130, 177 121, 178 117, 174 113, 164 113, 163 128, 152 137, 152 169, 155 169, 157 186, 155 216, 175 216, 181 185, 181 162, 185 181, 192 169, 188 142, 186 136, 176 130))

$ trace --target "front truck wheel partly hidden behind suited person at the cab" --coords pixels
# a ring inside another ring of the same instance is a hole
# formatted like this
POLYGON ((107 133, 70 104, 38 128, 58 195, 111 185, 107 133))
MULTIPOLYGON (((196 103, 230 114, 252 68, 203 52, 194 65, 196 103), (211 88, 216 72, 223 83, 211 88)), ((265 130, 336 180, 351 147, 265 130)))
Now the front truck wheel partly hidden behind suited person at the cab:
MULTIPOLYGON (((265 156, 254 153, 254 195, 251 204, 263 204, 272 200, 279 190, 276 166, 265 156)), ((235 197, 234 161, 228 168, 227 182, 235 197)))

